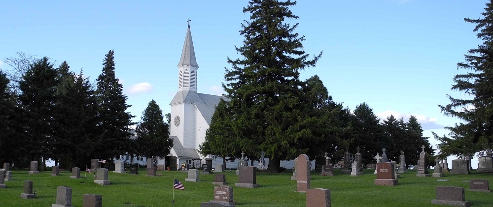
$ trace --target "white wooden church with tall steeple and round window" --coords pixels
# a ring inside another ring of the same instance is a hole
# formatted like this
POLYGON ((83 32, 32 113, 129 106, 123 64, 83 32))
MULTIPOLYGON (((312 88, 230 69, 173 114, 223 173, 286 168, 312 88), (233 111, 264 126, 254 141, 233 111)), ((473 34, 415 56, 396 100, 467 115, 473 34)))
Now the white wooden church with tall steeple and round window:
POLYGON ((178 63, 178 92, 170 103, 170 138, 174 139, 173 148, 170 156, 158 160, 158 170, 170 167, 174 163, 170 160, 173 156, 176 157, 177 168, 182 163, 196 167, 205 163, 206 157, 198 153, 197 149, 205 141, 215 106, 221 98, 226 98, 197 92, 198 68, 189 23, 178 63))

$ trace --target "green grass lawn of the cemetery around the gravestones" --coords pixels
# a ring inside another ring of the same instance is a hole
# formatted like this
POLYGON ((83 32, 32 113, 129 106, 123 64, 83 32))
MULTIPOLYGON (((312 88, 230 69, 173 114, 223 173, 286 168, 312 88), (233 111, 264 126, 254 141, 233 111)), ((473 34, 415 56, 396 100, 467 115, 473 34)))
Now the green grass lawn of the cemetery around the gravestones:
MULTIPOLYGON (((178 171, 158 171, 162 176, 148 177, 144 169, 139 175, 117 174, 109 172, 111 184, 101 186, 94 183, 93 174, 84 174, 86 179, 72 179, 70 172, 61 172, 61 176, 50 176, 51 170, 28 175, 28 170, 12 170, 12 180, 5 181, 7 188, 0 189, 1 207, 47 207, 55 203, 58 186, 72 188, 72 206, 81 207, 83 194, 103 196, 105 207, 199 207, 202 202, 213 198, 214 174, 200 174, 201 182, 186 182, 186 173, 178 171), (185 190, 175 189, 173 200, 173 178, 185 186, 185 190), (35 199, 22 199, 24 180, 33 181, 36 190, 35 199)), ((128 172, 128 171, 127 171, 128 172)), ((416 177, 416 170, 401 174, 397 186, 374 185, 376 175, 373 169, 365 169, 365 174, 350 177, 334 170, 334 176, 321 176, 312 171, 311 188, 325 188, 331 192, 333 207, 441 207, 431 204, 435 199, 437 186, 458 186, 465 190, 465 200, 474 207, 491 207, 493 193, 469 191, 469 180, 488 179, 493 182, 492 174, 451 175, 445 177, 416 177), (448 181, 437 181, 448 179, 448 181), (465 182, 467 181, 467 182, 465 182)), ((234 188, 234 201, 237 207, 304 207, 306 194, 296 192, 296 180, 291 180, 292 171, 269 174, 257 173, 258 188, 235 187, 238 176, 235 171, 222 172, 229 186, 234 188)))

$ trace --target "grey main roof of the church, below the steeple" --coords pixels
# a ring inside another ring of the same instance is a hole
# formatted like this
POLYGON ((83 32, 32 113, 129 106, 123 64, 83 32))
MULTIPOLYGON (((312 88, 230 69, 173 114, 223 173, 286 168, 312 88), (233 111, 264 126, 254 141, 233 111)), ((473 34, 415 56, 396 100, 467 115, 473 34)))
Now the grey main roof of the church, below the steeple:
POLYGON ((219 95, 197 93, 193 90, 181 90, 176 93, 170 105, 177 103, 195 104, 200 114, 202 114, 202 117, 206 119, 207 124, 211 125, 211 118, 214 114, 215 106, 219 103, 221 98, 229 101, 229 99, 219 95))

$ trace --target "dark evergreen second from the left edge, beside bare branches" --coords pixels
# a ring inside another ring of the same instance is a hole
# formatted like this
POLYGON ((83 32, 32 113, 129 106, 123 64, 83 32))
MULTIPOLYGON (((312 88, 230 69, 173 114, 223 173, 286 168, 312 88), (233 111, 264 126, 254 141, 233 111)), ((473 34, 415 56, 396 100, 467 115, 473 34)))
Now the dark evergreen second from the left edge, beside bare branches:
POLYGON ((56 113, 57 71, 47 57, 39 59, 19 82, 18 100, 23 110, 26 139, 24 149, 39 160, 53 155, 54 114, 56 113))

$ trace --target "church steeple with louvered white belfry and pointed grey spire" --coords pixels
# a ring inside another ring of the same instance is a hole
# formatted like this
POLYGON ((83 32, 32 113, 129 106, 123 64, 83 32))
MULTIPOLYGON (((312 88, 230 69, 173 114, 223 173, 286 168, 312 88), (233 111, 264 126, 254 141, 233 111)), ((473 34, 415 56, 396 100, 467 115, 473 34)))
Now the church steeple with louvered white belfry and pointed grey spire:
POLYGON ((190 19, 181 51, 180 62, 178 63, 178 90, 197 91, 197 69, 199 65, 195 59, 193 49, 192 33, 190 33, 190 19))

